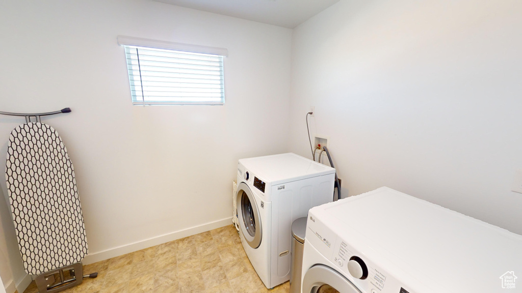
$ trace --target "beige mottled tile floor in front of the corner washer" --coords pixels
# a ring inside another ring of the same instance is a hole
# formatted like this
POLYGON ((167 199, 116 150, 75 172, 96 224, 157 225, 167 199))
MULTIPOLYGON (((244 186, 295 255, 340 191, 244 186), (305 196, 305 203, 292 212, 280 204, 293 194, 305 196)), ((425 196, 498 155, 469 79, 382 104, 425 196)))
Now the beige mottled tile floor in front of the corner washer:
MULTIPOLYGON (((84 266, 94 279, 64 293, 288 293, 267 289, 248 261, 238 232, 226 226, 84 266)), ((24 293, 37 293, 34 284, 24 293)))

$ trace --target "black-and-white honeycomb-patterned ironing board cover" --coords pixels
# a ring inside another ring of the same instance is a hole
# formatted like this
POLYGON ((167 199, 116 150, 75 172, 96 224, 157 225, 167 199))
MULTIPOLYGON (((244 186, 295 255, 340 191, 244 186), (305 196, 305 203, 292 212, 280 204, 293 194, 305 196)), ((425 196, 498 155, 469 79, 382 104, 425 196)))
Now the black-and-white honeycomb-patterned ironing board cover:
POLYGON ((58 132, 26 123, 9 136, 6 181, 18 246, 28 274, 81 261, 87 237, 73 163, 58 132))

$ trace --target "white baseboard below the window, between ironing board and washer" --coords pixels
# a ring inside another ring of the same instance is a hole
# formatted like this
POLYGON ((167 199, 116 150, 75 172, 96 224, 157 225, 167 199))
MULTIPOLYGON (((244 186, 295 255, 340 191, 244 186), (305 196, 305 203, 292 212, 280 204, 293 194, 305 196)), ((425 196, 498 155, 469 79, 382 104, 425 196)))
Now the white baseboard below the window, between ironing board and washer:
MULTIPOLYGON (((128 245, 120 246, 111 248, 108 250, 103 250, 99 252, 89 253, 84 260, 81 262, 83 264, 91 264, 103 260, 107 260, 110 258, 118 257, 123 254, 131 253, 134 251, 138 251, 141 249, 149 248, 152 246, 160 245, 161 243, 170 242, 176 239, 180 239, 187 236, 192 236, 195 234, 199 234, 208 230, 220 228, 223 226, 231 225, 232 224, 232 217, 227 217, 224 219, 220 219, 215 222, 210 222, 207 224, 194 226, 190 228, 186 228, 179 231, 174 231, 172 233, 164 234, 161 236, 149 238, 143 241, 138 241, 134 243, 130 243, 128 245)), ((23 291, 22 291, 23 292, 23 291)))

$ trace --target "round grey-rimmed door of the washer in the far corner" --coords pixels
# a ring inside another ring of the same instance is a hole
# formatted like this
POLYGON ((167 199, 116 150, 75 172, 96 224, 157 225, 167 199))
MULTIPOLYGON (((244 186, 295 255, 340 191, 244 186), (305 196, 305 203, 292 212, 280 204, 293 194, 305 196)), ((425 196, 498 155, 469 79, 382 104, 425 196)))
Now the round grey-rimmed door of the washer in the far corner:
POLYGON ((262 236, 261 217, 254 195, 245 182, 241 182, 238 186, 236 205, 241 233, 250 247, 258 248, 262 236))

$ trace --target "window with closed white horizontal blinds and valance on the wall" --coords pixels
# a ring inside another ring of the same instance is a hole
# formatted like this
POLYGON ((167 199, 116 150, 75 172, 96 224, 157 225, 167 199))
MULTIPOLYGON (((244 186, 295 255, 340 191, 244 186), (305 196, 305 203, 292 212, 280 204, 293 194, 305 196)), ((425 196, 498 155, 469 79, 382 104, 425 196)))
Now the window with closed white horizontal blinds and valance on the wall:
POLYGON ((223 56, 214 47, 118 36, 134 105, 223 105, 223 56))

